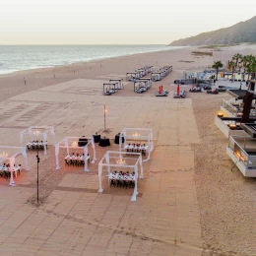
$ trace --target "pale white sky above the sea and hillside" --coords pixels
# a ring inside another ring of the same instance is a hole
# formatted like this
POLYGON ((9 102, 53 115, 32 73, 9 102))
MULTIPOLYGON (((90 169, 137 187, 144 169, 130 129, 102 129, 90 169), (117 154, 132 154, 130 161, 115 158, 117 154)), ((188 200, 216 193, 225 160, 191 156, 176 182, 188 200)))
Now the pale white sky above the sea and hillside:
POLYGON ((167 44, 256 15, 255 0, 237 2, 1 0, 0 44, 167 44))

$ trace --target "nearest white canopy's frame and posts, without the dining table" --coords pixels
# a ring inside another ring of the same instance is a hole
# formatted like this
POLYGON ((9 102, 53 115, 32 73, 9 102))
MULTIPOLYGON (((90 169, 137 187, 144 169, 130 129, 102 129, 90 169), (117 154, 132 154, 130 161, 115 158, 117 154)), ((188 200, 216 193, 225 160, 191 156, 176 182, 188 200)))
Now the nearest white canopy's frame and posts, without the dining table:
POLYGON ((99 189, 98 192, 102 193, 102 168, 103 166, 107 167, 107 173, 109 176, 111 172, 111 167, 115 168, 131 168, 135 172, 135 186, 133 196, 131 201, 136 201, 138 195, 138 167, 140 165, 140 178, 144 178, 143 175, 143 165, 142 165, 142 155, 141 153, 131 153, 129 157, 126 157, 126 152, 113 152, 107 151, 104 157, 98 162, 98 181, 99 189), (133 158, 132 158, 133 157, 133 158))

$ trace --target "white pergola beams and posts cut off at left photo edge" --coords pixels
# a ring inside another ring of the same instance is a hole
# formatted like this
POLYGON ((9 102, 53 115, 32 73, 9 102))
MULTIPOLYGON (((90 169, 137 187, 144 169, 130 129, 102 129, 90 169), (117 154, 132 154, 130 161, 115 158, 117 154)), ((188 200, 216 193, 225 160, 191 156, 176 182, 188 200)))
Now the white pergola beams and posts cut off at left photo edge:
POLYGON ((15 158, 22 154, 23 157, 25 158, 25 168, 26 170, 30 170, 29 169, 29 163, 28 163, 28 157, 27 157, 27 150, 26 150, 26 147, 12 147, 12 146, 0 146, 0 151, 2 152, 2 150, 8 150, 8 149, 12 149, 12 150, 17 150, 17 153, 15 153, 13 156, 11 157, 2 157, 0 155, 0 164, 2 164, 2 161, 3 160, 8 160, 10 162, 10 167, 9 167, 9 171, 11 172, 11 178, 10 178, 10 182, 9 182, 9 185, 11 186, 15 186, 15 182, 14 182, 14 164, 15 164, 15 158))

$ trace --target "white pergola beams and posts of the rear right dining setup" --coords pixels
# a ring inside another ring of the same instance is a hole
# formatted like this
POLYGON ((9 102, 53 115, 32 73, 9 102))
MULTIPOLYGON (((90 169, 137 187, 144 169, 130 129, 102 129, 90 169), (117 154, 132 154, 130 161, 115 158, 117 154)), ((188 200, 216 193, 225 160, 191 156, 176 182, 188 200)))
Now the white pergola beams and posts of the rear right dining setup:
MULTIPOLYGON (((148 158, 143 161, 148 161, 151 160, 151 153, 154 150, 154 143, 153 143, 153 131, 151 128, 124 128, 119 136, 119 151, 121 152, 122 150, 125 149, 125 146, 127 145, 126 141, 127 140, 134 140, 134 141, 147 141, 148 142, 148 158), (148 132, 148 135, 127 135, 127 132, 134 132, 138 133, 140 131, 148 132), (122 147, 122 138, 124 138, 124 146, 122 147)), ((130 154, 130 153, 129 153, 130 154)))

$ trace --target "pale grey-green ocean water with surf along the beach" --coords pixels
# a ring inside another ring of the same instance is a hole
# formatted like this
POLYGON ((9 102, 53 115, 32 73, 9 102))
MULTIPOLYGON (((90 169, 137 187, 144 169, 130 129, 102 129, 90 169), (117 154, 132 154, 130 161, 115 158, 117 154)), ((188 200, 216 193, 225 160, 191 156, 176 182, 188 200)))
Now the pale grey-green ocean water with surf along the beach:
POLYGON ((166 45, 0 45, 0 74, 175 49, 166 45))

